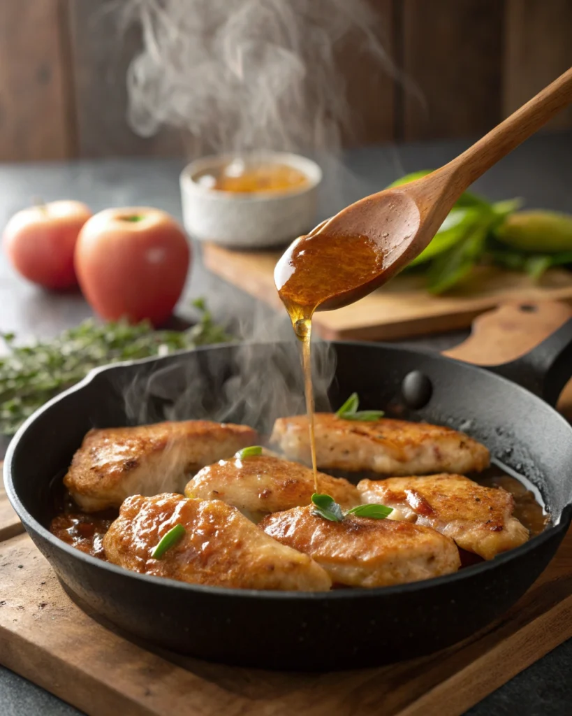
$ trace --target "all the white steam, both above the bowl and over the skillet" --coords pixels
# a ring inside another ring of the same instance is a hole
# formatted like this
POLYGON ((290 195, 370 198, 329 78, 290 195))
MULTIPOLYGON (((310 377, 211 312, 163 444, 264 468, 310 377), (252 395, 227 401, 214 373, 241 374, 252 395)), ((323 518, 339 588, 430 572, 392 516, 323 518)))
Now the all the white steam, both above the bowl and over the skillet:
MULTIPOLYGON (((354 62, 368 54, 396 74, 366 0, 123 0, 117 6, 125 27, 142 29, 142 52, 127 74, 129 122, 139 135, 168 125, 189 132, 203 153, 312 153, 325 170, 328 209, 341 208, 337 154, 352 117, 340 49, 350 47, 354 62)), ((365 192, 355 193, 357 199, 365 192)), ((142 367, 132 384, 121 386, 129 420, 205 418, 269 432, 276 417, 303 412, 300 349, 285 314, 255 319, 245 337, 250 342, 232 353, 207 349, 167 361, 158 372, 142 367)), ((335 356, 327 344, 312 344, 316 407, 328 410, 335 356)))

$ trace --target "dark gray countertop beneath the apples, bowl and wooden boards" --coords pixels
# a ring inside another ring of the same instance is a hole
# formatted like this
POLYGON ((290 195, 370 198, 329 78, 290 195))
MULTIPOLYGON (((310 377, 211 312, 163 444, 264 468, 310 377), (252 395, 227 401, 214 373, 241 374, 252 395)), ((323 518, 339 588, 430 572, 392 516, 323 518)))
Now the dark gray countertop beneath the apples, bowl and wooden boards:
MULTIPOLYGON (((468 145, 430 142, 352 150, 341 161, 324 160, 327 185, 320 217, 331 216, 350 201, 383 188, 403 173, 435 168, 468 145)), ((161 159, 109 159, 76 163, 0 165, 0 224, 41 197, 71 198, 93 211, 109 206, 151 205, 181 218, 178 175, 184 163, 161 159)), ((529 207, 572 211, 572 132, 533 137, 496 165, 475 190, 494 200, 521 196, 529 207)), ((205 296, 217 319, 257 331, 269 309, 204 270, 199 248, 178 313, 192 316, 189 299, 205 296)), ((21 336, 50 335, 77 324, 91 312, 79 294, 48 294, 11 271, 0 255, 0 330, 21 336)), ((282 320, 280 317, 279 319, 282 320)), ((285 318, 283 320, 286 320, 285 318)), ((416 339, 415 344, 445 349, 465 332, 416 339)), ((1 644, 0 644, 1 661, 1 644)), ((552 716, 571 712, 572 640, 476 705, 470 716, 552 716)), ((71 716, 79 712, 45 690, 0 667, 2 716, 71 716)))

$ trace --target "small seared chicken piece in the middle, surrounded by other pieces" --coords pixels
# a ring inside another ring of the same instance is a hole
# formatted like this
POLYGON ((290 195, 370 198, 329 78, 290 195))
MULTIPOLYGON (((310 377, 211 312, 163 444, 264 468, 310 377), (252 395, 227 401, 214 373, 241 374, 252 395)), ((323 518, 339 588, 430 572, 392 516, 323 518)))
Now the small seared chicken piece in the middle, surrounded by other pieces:
MULTIPOLYGON (((318 488, 349 509, 360 504, 358 488, 342 478, 318 473, 318 488)), ((184 494, 204 500, 223 500, 257 522, 269 512, 309 505, 314 473, 300 463, 267 455, 220 460, 194 476, 184 494)))

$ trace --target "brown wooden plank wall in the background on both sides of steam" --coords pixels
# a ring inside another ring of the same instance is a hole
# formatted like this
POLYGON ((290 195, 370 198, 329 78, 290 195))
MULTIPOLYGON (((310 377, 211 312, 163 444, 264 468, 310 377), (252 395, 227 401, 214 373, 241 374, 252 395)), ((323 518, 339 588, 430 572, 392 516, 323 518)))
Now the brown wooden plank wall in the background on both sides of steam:
MULTIPOLYGON (((348 143, 482 134, 572 65, 572 0, 368 1, 395 72, 345 48, 348 143)), ((0 160, 189 153, 177 132, 129 128, 139 37, 109 3, 0 0, 0 160)), ((552 126, 572 127, 572 108, 552 126)))

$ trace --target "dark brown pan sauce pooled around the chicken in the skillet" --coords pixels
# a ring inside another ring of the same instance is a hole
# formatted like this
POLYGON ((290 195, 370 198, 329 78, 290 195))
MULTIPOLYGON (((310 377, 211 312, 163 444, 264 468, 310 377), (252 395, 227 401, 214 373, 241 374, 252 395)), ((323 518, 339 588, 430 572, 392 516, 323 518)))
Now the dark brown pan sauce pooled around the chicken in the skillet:
MULTIPOLYGON (((362 477, 365 475, 354 475, 352 481, 357 481, 362 477)), ((530 489, 533 488, 533 485, 528 483, 526 478, 521 475, 518 475, 517 478, 516 473, 511 475, 497 465, 491 466, 483 473, 469 475, 469 477, 485 487, 500 487, 510 492, 515 501, 513 516, 530 531, 531 537, 540 534, 548 526, 550 516, 544 511, 543 505, 539 501, 540 495, 533 493, 530 489)), ((377 478, 379 479, 379 475, 377 478)), ((56 499, 57 503, 59 504, 56 507, 56 517, 50 524, 51 533, 72 547, 105 561, 102 541, 119 512, 107 510, 99 513, 82 513, 71 501, 69 495, 63 498, 63 504, 61 496, 56 499)), ((463 549, 460 549, 459 552, 461 569, 482 561, 479 556, 465 552, 463 549)))

